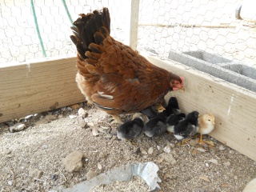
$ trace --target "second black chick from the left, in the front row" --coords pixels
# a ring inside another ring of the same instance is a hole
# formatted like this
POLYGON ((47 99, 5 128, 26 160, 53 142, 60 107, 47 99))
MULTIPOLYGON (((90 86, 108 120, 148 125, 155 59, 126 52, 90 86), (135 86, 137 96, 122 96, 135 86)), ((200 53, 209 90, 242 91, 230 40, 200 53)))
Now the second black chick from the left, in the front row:
POLYGON ((156 118, 151 118, 144 126, 144 133, 146 136, 153 138, 164 134, 167 130, 166 113, 163 111, 159 113, 156 118))

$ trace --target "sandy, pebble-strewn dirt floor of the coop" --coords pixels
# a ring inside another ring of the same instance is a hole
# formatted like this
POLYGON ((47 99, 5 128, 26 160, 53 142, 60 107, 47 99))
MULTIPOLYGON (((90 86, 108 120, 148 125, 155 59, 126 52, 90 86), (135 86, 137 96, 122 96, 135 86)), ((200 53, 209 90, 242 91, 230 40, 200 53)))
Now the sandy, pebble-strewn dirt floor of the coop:
MULTIPOLYGON (((203 146, 197 144, 198 138, 190 140, 187 146, 178 146, 169 134, 156 138, 157 145, 142 135, 132 145, 118 141, 114 135, 117 125, 110 124, 110 115, 86 103, 72 108, 27 117, 26 121, 22 118, 19 122, 8 122, 9 126, 1 124, 0 191, 62 191, 85 181, 92 173, 101 174, 128 162, 156 163, 161 191, 242 191, 256 177, 256 162, 214 138, 205 136, 208 143, 203 146), (88 113, 87 128, 81 128, 78 122, 81 107, 88 113), (10 132, 19 123, 27 128, 10 132), (96 126, 98 130, 94 130, 96 126), (84 155, 82 170, 69 173, 62 159, 75 150, 84 155)), ((145 182, 134 178, 130 182, 99 186, 94 191, 148 188, 145 182)))

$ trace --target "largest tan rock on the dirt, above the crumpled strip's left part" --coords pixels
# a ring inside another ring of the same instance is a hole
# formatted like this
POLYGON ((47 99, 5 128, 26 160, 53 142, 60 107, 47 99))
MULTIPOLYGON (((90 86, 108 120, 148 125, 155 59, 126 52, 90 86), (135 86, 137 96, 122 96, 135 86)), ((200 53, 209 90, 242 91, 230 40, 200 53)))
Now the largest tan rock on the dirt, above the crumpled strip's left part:
POLYGON ((83 154, 78 150, 68 154, 66 158, 62 159, 65 170, 70 173, 82 170, 82 158, 83 154))

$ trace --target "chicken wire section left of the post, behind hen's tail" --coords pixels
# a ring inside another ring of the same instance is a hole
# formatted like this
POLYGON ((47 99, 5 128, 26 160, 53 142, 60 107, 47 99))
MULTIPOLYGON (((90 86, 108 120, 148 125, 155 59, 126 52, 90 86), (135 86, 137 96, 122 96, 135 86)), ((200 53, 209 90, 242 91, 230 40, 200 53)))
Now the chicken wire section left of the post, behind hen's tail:
POLYGON ((1 1, 0 63, 25 62, 34 58, 54 56, 74 56, 76 49, 70 41, 71 21, 78 18, 78 14, 101 10, 103 6, 110 9, 111 35, 124 42, 127 32, 129 33, 124 21, 130 17, 130 1, 1 1), (36 24, 38 24, 39 35, 36 24), (42 41, 38 37, 41 37, 42 41))

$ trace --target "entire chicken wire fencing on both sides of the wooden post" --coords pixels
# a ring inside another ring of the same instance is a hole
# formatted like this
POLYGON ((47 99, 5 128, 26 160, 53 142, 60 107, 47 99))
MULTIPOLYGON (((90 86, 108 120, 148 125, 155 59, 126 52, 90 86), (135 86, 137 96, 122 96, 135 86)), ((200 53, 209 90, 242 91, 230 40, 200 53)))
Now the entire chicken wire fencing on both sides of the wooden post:
MULTIPOLYGON (((4 0, 0 63, 74 56, 71 21, 109 7, 111 36, 129 43, 130 1, 4 0)), ((235 18, 238 0, 141 0, 138 48, 256 91, 256 28, 235 18)), ((0 64, 1 65, 1 64, 0 64)))

